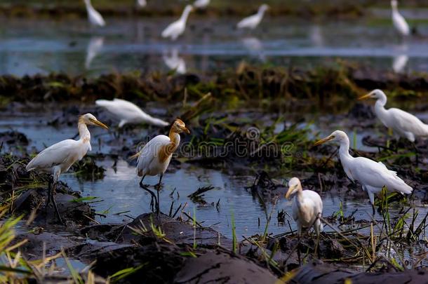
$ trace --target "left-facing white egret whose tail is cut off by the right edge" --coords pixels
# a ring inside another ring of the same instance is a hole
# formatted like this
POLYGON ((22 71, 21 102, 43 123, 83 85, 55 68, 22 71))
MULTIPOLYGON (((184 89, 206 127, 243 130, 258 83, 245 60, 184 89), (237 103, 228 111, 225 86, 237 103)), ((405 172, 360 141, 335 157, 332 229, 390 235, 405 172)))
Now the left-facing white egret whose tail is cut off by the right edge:
POLYGON ((407 138, 410 142, 415 142, 417 137, 428 137, 428 125, 424 124, 413 114, 394 107, 385 109, 387 95, 382 90, 372 90, 367 95, 359 97, 359 100, 366 100, 368 98, 376 99, 375 113, 377 118, 382 121, 384 126, 392 128, 397 135, 407 138))

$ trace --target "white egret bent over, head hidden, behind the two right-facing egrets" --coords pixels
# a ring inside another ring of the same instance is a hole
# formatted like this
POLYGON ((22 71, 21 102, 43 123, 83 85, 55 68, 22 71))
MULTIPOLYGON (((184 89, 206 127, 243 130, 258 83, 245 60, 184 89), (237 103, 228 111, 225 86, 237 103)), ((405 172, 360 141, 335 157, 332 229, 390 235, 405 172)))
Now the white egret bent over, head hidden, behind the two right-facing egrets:
POLYGON ((169 123, 146 114, 132 102, 127 100, 96 100, 95 104, 104 107, 119 119, 119 128, 126 123, 146 123, 152 126, 169 126, 169 123))

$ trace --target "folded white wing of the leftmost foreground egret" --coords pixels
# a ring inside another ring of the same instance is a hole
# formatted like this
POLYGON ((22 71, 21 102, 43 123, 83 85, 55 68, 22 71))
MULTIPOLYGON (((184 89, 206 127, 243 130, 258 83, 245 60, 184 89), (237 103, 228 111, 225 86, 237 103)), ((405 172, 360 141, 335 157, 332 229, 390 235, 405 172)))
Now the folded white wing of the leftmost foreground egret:
POLYGON ((62 165, 62 170, 68 170, 75 161, 79 161, 86 154, 88 145, 85 146, 85 144, 72 139, 63 140, 37 154, 28 163, 26 169, 48 170, 55 165, 62 165))

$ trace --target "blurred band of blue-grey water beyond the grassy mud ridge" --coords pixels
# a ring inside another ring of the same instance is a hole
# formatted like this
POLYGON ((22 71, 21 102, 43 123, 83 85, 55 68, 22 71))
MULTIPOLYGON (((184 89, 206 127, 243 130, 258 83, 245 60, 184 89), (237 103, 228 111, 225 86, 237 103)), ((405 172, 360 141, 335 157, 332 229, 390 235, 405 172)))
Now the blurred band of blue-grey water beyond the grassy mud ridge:
MULTIPOLYGON (((389 20, 307 22, 269 18, 255 32, 234 28, 239 19, 190 17, 178 41, 161 39, 172 18, 107 18, 107 27, 88 29, 86 20, 2 19, 0 74, 100 74, 177 68, 213 71, 237 62, 314 67, 345 58, 397 72, 428 69, 428 22, 419 35, 400 41, 389 20)), ((406 11, 408 19, 414 13, 406 11)))

